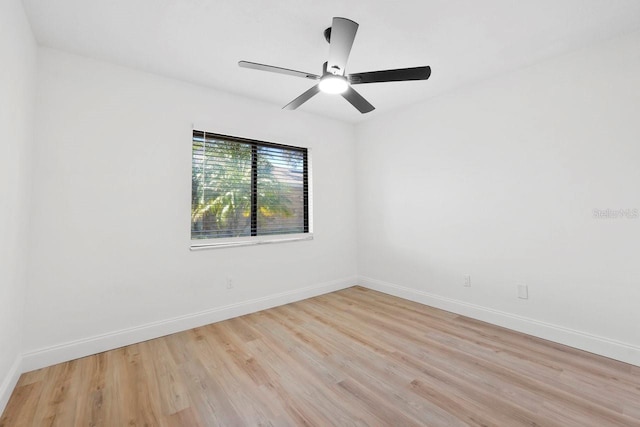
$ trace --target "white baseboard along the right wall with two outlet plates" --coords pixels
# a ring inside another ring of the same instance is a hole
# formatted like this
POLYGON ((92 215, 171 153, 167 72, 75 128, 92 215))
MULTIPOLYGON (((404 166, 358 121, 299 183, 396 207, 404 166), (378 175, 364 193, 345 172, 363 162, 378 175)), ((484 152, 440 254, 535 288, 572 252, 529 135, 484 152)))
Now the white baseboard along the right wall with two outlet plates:
POLYGON ((640 366, 640 347, 565 328, 528 317, 494 310, 464 301, 442 297, 429 292, 399 286, 370 277, 360 276, 358 283, 375 291, 404 298, 410 301, 440 308, 473 319, 481 320, 507 329, 533 335, 538 338, 568 345, 590 353, 640 366))

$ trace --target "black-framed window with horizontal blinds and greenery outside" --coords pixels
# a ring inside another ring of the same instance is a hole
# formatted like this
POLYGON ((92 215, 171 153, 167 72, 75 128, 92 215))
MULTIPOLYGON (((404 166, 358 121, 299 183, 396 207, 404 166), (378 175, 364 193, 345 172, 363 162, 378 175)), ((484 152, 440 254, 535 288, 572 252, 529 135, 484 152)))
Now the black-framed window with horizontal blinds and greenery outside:
POLYGON ((191 157, 192 241, 309 233, 306 148, 194 130, 191 157))

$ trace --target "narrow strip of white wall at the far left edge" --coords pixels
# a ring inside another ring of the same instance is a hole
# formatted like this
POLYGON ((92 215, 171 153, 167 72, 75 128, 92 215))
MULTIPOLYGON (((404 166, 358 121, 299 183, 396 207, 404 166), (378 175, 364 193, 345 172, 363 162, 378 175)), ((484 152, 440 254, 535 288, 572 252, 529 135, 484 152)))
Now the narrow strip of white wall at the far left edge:
POLYGON ((19 0, 0 3, 0 413, 18 378, 26 288, 36 44, 19 0))

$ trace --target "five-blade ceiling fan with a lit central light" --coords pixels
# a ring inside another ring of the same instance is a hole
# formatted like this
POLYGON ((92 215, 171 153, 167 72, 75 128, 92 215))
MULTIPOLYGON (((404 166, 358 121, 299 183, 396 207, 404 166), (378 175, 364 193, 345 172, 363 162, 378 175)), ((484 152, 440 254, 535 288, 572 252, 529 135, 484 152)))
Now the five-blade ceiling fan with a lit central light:
POLYGON ((344 99, 356 107, 362 114, 373 111, 375 107, 353 89, 353 85, 380 82, 399 82, 407 80, 427 80, 431 75, 431 67, 399 68, 396 70, 370 71, 366 73, 345 74, 347 60, 358 31, 358 24, 346 18, 333 18, 331 27, 324 31, 329 43, 329 60, 322 66, 322 76, 256 62, 240 61, 243 68, 288 74, 290 76, 317 80, 318 83, 302 95, 283 107, 295 110, 318 92, 341 94, 344 99))

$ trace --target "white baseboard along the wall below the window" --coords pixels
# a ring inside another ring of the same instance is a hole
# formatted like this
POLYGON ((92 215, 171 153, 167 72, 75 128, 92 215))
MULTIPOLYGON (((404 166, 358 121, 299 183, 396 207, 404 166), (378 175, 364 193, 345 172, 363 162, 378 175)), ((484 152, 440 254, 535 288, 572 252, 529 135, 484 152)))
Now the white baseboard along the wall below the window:
POLYGON ((319 283, 301 289, 28 351, 22 355, 22 370, 23 372, 28 372, 34 369, 44 368, 55 365, 56 363, 78 359, 125 345, 159 338, 210 323, 326 294, 354 286, 356 283, 357 278, 355 276, 319 283))

